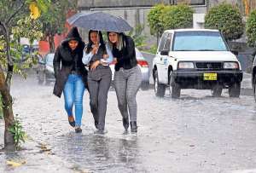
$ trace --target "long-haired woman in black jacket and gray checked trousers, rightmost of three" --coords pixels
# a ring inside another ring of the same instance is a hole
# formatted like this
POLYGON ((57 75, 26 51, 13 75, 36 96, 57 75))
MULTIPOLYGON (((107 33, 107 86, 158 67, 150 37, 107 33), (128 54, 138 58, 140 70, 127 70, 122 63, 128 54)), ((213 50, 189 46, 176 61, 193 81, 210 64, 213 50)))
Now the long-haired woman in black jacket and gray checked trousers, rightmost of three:
POLYGON ((137 66, 135 45, 131 37, 117 32, 108 32, 108 43, 116 62, 113 83, 123 125, 125 130, 129 128, 130 115, 131 132, 137 132, 136 95, 142 83, 142 72, 137 66))

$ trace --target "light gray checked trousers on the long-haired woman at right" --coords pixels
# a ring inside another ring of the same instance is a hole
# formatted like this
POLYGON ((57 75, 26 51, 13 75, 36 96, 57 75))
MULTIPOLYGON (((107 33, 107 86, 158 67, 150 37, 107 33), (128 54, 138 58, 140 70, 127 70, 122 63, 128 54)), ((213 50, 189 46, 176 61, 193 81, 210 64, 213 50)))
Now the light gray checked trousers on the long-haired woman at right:
POLYGON ((137 90, 142 83, 142 72, 138 66, 125 70, 120 68, 114 72, 114 88, 116 91, 119 111, 123 118, 129 118, 130 121, 137 121, 137 90), (129 108, 129 114, 127 107, 129 108))

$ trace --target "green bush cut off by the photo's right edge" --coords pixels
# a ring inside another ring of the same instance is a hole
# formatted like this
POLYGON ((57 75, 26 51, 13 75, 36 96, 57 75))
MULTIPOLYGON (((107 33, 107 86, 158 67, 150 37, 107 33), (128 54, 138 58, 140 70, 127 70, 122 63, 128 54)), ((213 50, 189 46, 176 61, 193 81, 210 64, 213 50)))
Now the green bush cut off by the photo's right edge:
POLYGON ((256 46, 256 9, 252 11, 247 19, 247 43, 256 46))

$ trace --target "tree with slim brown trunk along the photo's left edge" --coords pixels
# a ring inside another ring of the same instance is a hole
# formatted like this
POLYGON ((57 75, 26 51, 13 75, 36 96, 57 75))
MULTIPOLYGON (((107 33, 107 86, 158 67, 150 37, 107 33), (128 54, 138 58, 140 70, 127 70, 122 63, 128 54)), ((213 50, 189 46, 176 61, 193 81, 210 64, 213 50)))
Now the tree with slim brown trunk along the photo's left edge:
MULTIPOLYGON (((40 10, 45 11, 49 7, 49 0, 20 0, 20 1, 0 1, 0 95, 2 97, 3 118, 5 123, 4 148, 15 150, 16 137, 10 129, 15 126, 13 113, 13 101, 10 95, 10 81, 15 70, 15 62, 12 58, 11 48, 17 48, 17 43, 10 39, 13 28, 18 24, 18 20, 29 14, 29 5, 35 4, 40 10), (6 67, 5 67, 6 66, 6 67)), ((33 15, 32 15, 33 16, 33 15)), ((16 51, 13 51, 13 55, 16 51)), ((17 51, 19 52, 19 51, 17 51)))

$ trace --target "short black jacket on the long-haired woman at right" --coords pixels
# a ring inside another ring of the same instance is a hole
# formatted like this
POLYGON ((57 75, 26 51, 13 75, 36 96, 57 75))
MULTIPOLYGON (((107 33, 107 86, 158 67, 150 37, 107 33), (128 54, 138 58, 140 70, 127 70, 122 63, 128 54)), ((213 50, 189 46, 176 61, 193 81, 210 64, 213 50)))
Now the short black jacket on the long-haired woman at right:
POLYGON ((115 71, 119 71, 120 67, 131 69, 137 66, 137 58, 135 53, 135 44, 130 36, 123 36, 123 49, 113 48, 113 57, 117 58, 114 66, 115 71))

